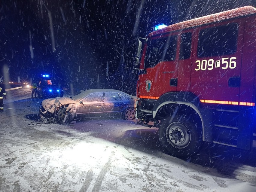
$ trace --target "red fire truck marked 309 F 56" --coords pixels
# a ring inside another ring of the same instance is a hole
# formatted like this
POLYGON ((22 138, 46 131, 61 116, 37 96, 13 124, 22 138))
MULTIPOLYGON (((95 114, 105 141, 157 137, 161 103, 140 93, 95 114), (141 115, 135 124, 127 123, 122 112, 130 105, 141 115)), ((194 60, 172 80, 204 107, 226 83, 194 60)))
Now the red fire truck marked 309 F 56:
POLYGON ((139 38, 136 118, 154 121, 173 156, 188 158, 203 142, 256 147, 255 39, 251 6, 139 38))

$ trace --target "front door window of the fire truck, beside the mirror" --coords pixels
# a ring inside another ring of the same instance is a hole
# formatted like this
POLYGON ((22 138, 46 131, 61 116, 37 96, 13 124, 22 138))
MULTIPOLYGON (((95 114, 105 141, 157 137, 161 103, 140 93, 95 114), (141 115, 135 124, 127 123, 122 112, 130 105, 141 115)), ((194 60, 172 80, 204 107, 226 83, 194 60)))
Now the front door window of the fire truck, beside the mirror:
POLYGON ((154 67, 161 61, 172 61, 176 56, 177 36, 154 39, 148 43, 145 68, 154 67))

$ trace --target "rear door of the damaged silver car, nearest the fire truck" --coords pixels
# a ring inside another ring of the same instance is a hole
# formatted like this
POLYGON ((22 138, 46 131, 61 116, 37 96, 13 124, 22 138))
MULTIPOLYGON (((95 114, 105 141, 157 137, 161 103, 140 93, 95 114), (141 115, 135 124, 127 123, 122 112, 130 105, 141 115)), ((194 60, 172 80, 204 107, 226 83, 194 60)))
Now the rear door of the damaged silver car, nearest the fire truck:
POLYGON ((105 117, 120 116, 126 104, 118 93, 106 92, 104 96, 105 117))

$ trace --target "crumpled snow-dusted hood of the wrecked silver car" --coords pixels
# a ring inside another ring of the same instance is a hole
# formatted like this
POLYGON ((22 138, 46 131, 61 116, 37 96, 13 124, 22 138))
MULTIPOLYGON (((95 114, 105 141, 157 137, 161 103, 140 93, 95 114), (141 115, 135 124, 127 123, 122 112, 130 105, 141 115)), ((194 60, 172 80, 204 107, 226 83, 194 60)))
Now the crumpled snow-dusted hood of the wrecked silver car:
POLYGON ((42 101, 42 106, 45 110, 49 111, 50 113, 54 113, 57 107, 62 105, 69 105, 69 104, 78 104, 78 102, 68 98, 68 97, 55 97, 50 99, 44 99, 42 101))

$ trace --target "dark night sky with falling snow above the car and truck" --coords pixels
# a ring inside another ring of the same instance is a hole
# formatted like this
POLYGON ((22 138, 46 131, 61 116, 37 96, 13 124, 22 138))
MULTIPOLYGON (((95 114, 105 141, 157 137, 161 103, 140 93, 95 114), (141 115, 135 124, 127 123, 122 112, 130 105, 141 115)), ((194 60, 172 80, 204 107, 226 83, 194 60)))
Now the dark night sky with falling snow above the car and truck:
POLYGON ((47 72, 75 87, 131 92, 136 39, 155 24, 245 5, 256 1, 1 0, 0 78, 30 81, 47 72))

